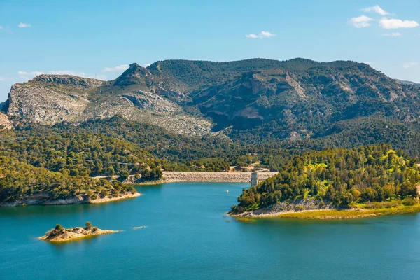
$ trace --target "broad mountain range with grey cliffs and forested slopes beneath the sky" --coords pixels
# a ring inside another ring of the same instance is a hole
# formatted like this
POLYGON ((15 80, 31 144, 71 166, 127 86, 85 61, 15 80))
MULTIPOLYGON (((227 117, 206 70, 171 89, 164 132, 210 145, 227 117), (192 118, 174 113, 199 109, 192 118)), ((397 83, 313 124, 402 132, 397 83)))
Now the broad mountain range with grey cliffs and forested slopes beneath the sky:
POLYGON ((120 115, 188 136, 219 132, 248 142, 299 141, 335 134, 336 124, 370 123, 365 118, 415 124, 419 93, 416 85, 350 61, 166 60, 147 68, 131 64, 107 82, 41 75, 13 85, 3 111, 15 123, 120 115))

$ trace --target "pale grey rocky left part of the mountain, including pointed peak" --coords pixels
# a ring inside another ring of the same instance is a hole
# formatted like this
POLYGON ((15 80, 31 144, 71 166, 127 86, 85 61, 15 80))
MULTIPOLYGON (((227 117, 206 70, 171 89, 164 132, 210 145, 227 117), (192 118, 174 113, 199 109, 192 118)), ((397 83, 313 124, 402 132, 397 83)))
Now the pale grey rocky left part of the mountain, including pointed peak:
POLYGON ((190 116, 176 102, 157 94, 156 83, 149 89, 146 82, 143 83, 151 76, 147 69, 132 64, 126 72, 113 82, 118 85, 68 75, 37 76, 27 83, 12 86, 7 114, 42 125, 80 123, 119 115, 159 125, 177 134, 210 132, 209 121, 190 116))

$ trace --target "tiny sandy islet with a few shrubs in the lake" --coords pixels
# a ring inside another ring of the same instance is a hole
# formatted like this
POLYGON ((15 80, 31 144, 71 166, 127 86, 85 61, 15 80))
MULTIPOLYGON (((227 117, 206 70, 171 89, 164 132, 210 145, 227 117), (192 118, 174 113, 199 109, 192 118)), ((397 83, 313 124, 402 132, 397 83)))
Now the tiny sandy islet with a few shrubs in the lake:
POLYGON ((101 230, 97 227, 93 227, 90 222, 86 222, 84 228, 63 228, 62 225, 57 224, 55 228, 46 232, 45 235, 39 237, 39 239, 50 242, 65 242, 97 235, 108 235, 113 232, 118 232, 118 230, 101 230))

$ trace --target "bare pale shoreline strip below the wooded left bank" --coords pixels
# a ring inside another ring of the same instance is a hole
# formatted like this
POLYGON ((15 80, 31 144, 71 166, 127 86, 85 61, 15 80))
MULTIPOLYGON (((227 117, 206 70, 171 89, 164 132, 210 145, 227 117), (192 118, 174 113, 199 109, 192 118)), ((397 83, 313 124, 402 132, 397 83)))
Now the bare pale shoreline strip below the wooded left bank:
POLYGON ((125 193, 124 195, 118 195, 118 197, 103 197, 95 200, 84 200, 79 197, 72 197, 68 199, 59 200, 46 200, 48 195, 35 195, 33 197, 27 197, 24 200, 18 202, 2 202, 0 207, 20 207, 30 205, 66 205, 66 204, 98 204, 104 202, 113 202, 116 200, 127 200, 129 198, 139 197, 141 193, 125 193))

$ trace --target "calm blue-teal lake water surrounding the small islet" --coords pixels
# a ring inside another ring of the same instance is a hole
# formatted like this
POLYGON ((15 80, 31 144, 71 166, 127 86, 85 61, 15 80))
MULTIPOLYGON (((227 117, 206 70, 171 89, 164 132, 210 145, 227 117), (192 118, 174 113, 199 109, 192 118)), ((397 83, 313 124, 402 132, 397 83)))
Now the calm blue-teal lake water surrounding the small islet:
POLYGON ((107 204, 0 208, 0 279, 420 278, 420 215, 244 223, 225 212, 246 187, 169 183, 107 204), (123 232, 36 238, 85 221, 123 232))

